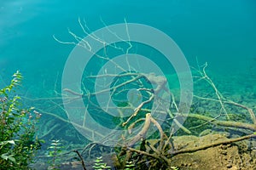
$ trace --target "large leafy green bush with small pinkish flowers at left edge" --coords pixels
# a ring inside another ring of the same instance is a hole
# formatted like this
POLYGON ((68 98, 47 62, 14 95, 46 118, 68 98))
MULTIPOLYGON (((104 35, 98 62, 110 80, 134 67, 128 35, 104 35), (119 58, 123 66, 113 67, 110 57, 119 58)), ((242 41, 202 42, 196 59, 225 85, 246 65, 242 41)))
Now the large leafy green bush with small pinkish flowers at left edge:
POLYGON ((9 86, 0 89, 0 169, 28 169, 35 151, 41 146, 35 137, 41 116, 33 108, 21 108, 15 88, 22 76, 17 71, 9 86))

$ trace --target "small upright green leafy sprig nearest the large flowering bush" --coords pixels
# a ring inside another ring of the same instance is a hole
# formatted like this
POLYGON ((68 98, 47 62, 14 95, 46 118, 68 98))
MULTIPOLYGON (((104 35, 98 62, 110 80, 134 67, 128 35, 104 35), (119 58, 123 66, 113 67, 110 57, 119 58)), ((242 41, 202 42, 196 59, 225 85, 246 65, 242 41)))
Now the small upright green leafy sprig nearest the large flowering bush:
POLYGON ((59 169, 61 165, 60 155, 62 152, 62 146, 60 140, 52 140, 52 143, 48 147, 49 157, 51 157, 51 161, 49 161, 50 167, 48 169, 59 169))

